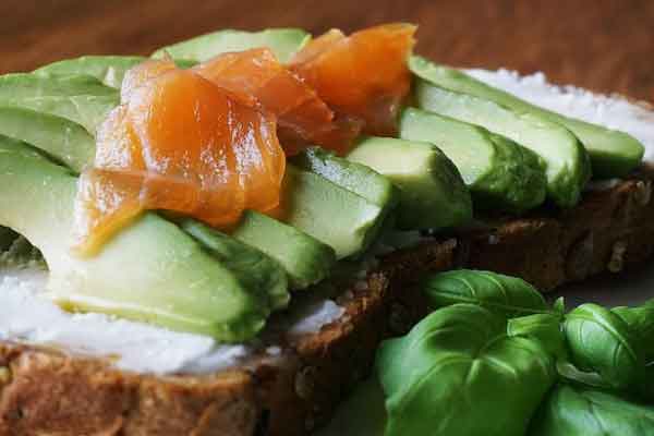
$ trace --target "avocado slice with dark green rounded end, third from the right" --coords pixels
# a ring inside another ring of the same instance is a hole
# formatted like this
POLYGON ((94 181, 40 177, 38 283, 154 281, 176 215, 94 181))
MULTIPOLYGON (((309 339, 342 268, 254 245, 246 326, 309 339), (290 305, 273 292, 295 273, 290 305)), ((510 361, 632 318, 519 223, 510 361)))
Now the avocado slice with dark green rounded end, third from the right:
POLYGON ((532 150, 486 129, 407 108, 400 137, 436 145, 459 169, 475 207, 520 214, 543 203, 545 165, 532 150))

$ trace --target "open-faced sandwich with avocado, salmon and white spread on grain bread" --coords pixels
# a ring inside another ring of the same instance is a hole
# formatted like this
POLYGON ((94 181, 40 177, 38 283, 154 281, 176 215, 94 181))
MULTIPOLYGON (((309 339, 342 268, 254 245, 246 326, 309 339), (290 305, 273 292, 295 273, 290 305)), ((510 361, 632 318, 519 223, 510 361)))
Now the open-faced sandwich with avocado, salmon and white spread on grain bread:
POLYGON ((434 307, 427 272, 547 291, 652 253, 653 112, 414 33, 0 76, 0 434, 308 434, 434 307))

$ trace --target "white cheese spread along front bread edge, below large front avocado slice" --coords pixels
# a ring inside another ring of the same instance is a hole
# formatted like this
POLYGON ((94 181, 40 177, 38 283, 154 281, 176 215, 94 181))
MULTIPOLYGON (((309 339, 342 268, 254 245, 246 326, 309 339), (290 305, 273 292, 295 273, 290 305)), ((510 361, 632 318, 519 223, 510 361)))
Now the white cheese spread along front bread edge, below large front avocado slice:
MULTIPOLYGON (((70 314, 41 295, 46 281, 44 270, 0 271, 0 340, 108 358, 118 368, 154 374, 211 373, 234 366, 253 352, 245 344, 219 344, 209 337, 107 315, 70 314)), ((330 300, 319 301, 294 319, 290 331, 318 331, 343 312, 330 300)))

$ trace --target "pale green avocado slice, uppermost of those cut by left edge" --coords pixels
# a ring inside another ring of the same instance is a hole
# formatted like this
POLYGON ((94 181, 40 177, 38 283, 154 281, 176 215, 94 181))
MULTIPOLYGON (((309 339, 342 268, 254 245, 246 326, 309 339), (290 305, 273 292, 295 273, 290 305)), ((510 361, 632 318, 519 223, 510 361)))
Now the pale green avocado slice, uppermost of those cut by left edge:
POLYGON ((119 102, 117 89, 105 86, 92 76, 0 76, 0 105, 61 117, 84 126, 93 135, 119 102))

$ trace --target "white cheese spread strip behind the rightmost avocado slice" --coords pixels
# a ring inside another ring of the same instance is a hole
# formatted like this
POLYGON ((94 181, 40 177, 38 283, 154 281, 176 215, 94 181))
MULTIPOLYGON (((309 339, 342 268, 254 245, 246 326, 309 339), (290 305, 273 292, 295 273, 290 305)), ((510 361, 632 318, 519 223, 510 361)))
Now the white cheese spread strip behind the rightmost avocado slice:
POLYGON ((645 147, 644 160, 654 164, 654 111, 621 97, 602 96, 573 86, 552 85, 543 73, 526 76, 508 70, 468 70, 467 73, 536 106, 627 132, 645 147))

